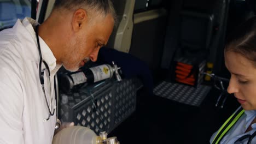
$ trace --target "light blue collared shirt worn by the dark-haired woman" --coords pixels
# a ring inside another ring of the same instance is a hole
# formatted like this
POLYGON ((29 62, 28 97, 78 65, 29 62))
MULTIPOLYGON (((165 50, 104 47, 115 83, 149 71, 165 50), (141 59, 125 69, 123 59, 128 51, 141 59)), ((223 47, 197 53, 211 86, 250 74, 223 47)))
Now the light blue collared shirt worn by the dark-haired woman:
MULTIPOLYGON (((238 109, 240 109, 240 107, 238 109)), ((256 123, 252 124, 251 131, 248 131, 247 133, 245 133, 245 131, 248 129, 249 125, 252 123, 255 116, 256 116, 256 110, 245 111, 245 113, 238 119, 238 121, 223 137, 222 141, 220 141, 220 144, 234 144, 240 137, 248 134, 252 135, 256 131, 256 123)), ((212 135, 210 143, 213 142, 214 137, 217 135, 217 133, 218 131, 216 131, 216 133, 212 135)), ((247 141, 248 141, 248 138, 243 141, 236 142, 235 144, 246 144, 247 141)), ((256 143, 256 137, 254 137, 251 143, 256 143)))

